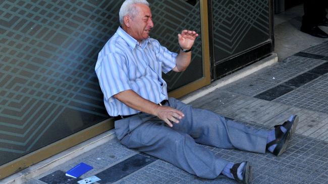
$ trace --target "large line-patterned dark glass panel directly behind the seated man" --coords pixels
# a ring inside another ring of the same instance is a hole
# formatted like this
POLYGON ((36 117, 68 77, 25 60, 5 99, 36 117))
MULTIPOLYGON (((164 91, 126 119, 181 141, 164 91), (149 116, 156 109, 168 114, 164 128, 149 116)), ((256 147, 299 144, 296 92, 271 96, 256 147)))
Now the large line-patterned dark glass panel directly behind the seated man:
MULTIPOLYGON (((123 1, 0 1, 0 165, 108 118, 94 72, 118 28, 123 1)), ((149 1, 151 34, 179 51, 177 34, 200 34, 199 2, 149 1)), ((169 73, 169 89, 202 77, 201 39, 192 64, 169 73)))

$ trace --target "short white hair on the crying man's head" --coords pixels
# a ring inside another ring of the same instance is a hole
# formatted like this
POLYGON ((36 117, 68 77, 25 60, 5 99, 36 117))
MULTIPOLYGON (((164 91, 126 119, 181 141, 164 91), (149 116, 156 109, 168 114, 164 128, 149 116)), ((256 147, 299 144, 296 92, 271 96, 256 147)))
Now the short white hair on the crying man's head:
POLYGON ((138 14, 138 12, 134 6, 135 4, 143 4, 143 5, 147 5, 149 7, 149 3, 146 0, 126 0, 122 4, 122 6, 120 8, 120 12, 119 12, 121 25, 123 25, 124 16, 129 15, 129 16, 131 16, 131 18, 133 18, 134 16, 136 16, 138 14))

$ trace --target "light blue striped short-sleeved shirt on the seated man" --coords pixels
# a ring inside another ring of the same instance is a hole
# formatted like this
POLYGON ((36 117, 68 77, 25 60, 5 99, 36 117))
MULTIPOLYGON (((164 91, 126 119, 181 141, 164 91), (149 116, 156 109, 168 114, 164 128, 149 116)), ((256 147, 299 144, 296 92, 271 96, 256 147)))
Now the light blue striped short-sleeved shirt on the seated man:
POLYGON ((110 116, 136 114, 113 96, 132 89, 142 98, 158 104, 168 99, 167 83, 161 72, 176 66, 177 53, 169 51, 152 38, 139 44, 121 27, 98 54, 95 71, 110 116))

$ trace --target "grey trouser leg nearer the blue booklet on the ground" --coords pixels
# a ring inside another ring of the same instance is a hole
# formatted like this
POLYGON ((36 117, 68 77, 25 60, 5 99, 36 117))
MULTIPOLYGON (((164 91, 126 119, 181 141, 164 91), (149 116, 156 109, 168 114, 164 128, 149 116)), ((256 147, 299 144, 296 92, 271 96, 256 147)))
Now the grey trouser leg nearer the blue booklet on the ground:
POLYGON ((202 178, 216 178, 228 163, 195 143, 188 134, 161 121, 144 122, 124 136, 121 143, 155 156, 202 178))

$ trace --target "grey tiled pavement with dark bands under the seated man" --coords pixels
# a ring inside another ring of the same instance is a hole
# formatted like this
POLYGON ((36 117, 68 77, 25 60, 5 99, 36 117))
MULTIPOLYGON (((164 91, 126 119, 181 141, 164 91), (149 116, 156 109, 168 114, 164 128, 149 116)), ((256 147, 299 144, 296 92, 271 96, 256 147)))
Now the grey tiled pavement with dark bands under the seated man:
MULTIPOLYGON (((282 124, 290 115, 298 115, 296 133, 279 157, 268 152, 204 147, 233 162, 250 161, 251 183, 321 184, 328 183, 327 91, 328 41, 218 87, 189 104, 267 130, 282 124)), ((93 175, 101 179, 94 183, 237 183, 221 177, 201 179, 163 160, 128 149, 115 136, 24 183, 77 183, 93 175), (93 169, 76 179, 65 176, 80 162, 93 169)))

